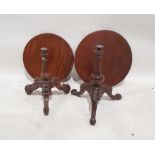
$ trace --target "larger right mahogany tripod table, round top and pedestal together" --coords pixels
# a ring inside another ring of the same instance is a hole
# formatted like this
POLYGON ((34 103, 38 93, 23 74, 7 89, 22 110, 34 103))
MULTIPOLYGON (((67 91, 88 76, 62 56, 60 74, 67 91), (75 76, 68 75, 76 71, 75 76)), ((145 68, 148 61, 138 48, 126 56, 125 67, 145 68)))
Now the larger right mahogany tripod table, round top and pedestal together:
POLYGON ((132 53, 127 41, 118 33, 108 30, 93 32, 79 44, 75 53, 75 68, 81 79, 80 91, 73 89, 72 95, 80 96, 87 91, 91 97, 90 124, 96 124, 96 110, 100 98, 106 93, 112 100, 122 98, 112 95, 112 86, 120 83, 128 74, 132 53))

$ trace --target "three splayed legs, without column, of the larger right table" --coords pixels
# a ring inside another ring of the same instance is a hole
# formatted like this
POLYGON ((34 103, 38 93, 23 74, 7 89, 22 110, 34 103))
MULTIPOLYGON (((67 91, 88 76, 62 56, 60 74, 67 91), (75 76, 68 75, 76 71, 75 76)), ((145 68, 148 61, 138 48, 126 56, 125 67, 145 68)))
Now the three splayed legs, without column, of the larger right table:
POLYGON ((89 96, 90 96, 91 102, 92 102, 92 112, 91 112, 91 118, 89 121, 91 125, 96 124, 97 104, 104 93, 106 93, 112 100, 120 100, 122 98, 122 96, 120 94, 116 94, 116 95, 112 94, 111 86, 107 86, 104 84, 94 84, 94 83, 83 83, 80 85, 80 91, 73 89, 71 91, 71 93, 72 93, 72 95, 76 95, 79 97, 85 91, 87 91, 89 93, 89 96))

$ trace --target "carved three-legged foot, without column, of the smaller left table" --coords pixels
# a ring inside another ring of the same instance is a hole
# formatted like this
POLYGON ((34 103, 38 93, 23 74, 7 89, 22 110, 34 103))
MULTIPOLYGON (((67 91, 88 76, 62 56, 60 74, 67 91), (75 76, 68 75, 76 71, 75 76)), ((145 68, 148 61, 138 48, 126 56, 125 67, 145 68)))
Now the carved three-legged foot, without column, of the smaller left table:
POLYGON ((28 95, 31 95, 32 92, 38 88, 42 88, 42 96, 44 98, 44 115, 48 115, 49 113, 49 96, 52 95, 51 89, 54 87, 63 91, 65 94, 68 94, 70 91, 70 86, 68 84, 61 84, 56 78, 51 77, 49 74, 44 75, 44 77, 41 75, 34 80, 34 83, 25 86, 25 91, 28 95))

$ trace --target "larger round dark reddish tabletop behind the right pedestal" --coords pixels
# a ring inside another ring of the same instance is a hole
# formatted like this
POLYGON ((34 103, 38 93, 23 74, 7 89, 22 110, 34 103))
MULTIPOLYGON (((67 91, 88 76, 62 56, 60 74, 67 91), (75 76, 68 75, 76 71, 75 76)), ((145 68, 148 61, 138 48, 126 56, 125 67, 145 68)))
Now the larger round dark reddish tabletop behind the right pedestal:
POLYGON ((75 53, 75 68, 85 82, 89 82, 93 72, 96 45, 104 46, 101 62, 104 84, 114 86, 121 82, 130 70, 132 63, 130 46, 120 34, 113 31, 101 30, 87 35, 75 53))

